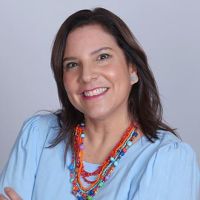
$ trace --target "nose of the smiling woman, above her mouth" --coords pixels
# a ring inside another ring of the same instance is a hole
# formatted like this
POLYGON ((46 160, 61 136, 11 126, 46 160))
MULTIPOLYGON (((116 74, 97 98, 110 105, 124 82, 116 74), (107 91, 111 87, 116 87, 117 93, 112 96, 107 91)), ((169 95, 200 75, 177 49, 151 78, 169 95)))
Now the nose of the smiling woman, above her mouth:
POLYGON ((93 79, 96 79, 98 74, 95 70, 95 66, 89 63, 82 64, 82 70, 80 74, 80 80, 84 83, 88 83, 93 79))

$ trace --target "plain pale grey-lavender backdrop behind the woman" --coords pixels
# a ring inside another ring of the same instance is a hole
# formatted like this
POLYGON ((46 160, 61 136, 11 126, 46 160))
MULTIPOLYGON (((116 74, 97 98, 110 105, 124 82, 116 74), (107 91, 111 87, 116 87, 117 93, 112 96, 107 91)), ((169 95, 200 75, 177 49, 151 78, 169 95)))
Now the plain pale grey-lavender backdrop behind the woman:
POLYGON ((199 0, 1 0, 0 171, 23 121, 59 108, 50 69, 58 28, 73 12, 97 6, 135 34, 157 80, 164 119, 200 158, 199 0))

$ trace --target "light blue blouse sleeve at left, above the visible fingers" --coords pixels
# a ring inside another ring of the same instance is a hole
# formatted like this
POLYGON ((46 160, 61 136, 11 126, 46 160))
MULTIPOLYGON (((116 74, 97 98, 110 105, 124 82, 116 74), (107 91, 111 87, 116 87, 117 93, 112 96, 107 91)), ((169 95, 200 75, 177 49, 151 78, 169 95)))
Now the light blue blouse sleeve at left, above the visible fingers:
POLYGON ((47 120, 34 116, 23 124, 0 176, 0 193, 12 187, 22 199, 30 200, 41 151, 48 131, 47 120))

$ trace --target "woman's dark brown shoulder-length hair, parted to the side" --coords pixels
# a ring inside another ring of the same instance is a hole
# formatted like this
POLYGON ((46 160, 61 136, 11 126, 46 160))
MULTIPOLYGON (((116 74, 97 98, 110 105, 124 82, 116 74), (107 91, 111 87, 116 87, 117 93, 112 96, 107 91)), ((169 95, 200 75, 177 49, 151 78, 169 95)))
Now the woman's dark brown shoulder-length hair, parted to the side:
POLYGON ((61 25, 52 49, 51 67, 57 84, 58 95, 62 108, 55 114, 58 116, 60 132, 52 143, 57 145, 67 139, 67 146, 72 146, 74 127, 84 121, 83 113, 70 103, 63 84, 63 56, 68 34, 78 27, 97 24, 111 34, 123 50, 128 63, 135 65, 139 81, 132 86, 128 110, 138 122, 144 135, 153 142, 157 139, 157 130, 174 132, 162 119, 162 105, 154 76, 149 68, 147 57, 131 33, 127 25, 115 14, 104 9, 80 10, 61 25))

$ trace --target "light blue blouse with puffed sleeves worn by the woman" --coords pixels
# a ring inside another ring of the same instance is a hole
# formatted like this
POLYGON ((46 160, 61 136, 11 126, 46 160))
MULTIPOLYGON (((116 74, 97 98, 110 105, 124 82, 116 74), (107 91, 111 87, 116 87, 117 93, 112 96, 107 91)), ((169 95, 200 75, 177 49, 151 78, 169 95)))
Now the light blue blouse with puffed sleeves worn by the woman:
MULTIPOLYGON (((75 200, 71 194, 65 143, 46 148, 59 130, 57 118, 27 120, 0 176, 0 193, 13 187, 24 200, 75 200)), ((151 143, 145 136, 121 158, 96 200, 199 200, 200 171, 192 148, 166 131, 151 143)), ((84 163, 87 171, 98 165, 84 163)))

